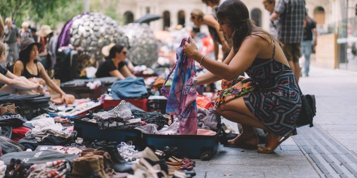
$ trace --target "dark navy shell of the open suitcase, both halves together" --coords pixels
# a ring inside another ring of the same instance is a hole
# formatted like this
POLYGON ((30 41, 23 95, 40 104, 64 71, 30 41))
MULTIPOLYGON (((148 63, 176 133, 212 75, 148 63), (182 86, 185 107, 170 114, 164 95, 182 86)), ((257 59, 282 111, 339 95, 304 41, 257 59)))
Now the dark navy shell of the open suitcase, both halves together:
POLYGON ((208 160, 217 152, 218 135, 158 135, 144 134, 139 130, 99 130, 96 123, 82 121, 86 116, 74 118, 74 130, 78 137, 89 140, 107 140, 118 142, 131 142, 139 151, 149 146, 152 150, 163 150, 165 146, 177 147, 179 153, 176 156, 208 160))

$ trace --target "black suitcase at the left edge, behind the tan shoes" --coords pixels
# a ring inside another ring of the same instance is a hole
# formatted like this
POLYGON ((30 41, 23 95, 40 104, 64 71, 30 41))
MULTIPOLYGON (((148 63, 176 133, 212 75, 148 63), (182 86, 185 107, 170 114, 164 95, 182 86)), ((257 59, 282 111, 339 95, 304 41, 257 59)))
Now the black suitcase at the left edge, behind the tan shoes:
POLYGON ((0 97, 0 104, 14 103, 16 107, 19 107, 18 113, 31 120, 37 115, 48 113, 48 102, 50 97, 40 95, 8 95, 0 97))

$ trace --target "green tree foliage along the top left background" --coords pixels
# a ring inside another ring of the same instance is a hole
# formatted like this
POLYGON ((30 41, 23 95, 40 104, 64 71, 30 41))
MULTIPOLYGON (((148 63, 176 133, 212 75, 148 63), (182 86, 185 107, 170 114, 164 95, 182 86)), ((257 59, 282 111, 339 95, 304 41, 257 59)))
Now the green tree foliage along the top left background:
MULTIPOLYGON (((122 21, 119 0, 90 0, 90 11, 122 21)), ((0 14, 11 17, 18 27, 25 20, 48 24, 52 28, 84 12, 84 0, 0 0, 0 14)))

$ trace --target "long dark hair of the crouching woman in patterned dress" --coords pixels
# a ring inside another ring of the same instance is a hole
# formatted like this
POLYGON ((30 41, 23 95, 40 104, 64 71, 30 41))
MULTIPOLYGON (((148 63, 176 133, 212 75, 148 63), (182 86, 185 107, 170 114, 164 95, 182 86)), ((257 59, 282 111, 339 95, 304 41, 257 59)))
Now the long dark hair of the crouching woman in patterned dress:
POLYGON ((256 35, 266 40, 268 43, 275 40, 280 44, 273 35, 269 34, 264 29, 257 27, 254 22, 249 19, 249 11, 245 4, 240 0, 226 0, 223 4, 215 8, 215 12, 220 24, 228 24, 234 29, 232 41, 236 53, 244 39, 250 35, 256 35), (270 42, 258 34, 267 35, 270 38, 270 42))

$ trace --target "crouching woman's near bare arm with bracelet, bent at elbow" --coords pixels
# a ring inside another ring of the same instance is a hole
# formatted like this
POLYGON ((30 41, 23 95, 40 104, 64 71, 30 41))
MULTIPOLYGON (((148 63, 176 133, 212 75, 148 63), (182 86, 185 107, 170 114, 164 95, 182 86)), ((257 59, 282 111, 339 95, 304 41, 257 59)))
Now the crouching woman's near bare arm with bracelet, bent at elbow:
MULTIPOLYGON (((201 57, 203 56, 197 50, 196 43, 189 37, 190 44, 186 42, 184 47, 187 56, 193 58, 195 61, 200 63, 201 57)), ((248 36, 242 43, 239 51, 233 57, 229 65, 225 63, 220 63, 215 60, 210 60, 208 57, 203 57, 201 65, 209 70, 212 74, 231 81, 243 73, 249 68, 253 63, 254 59, 261 51, 262 39, 257 36, 248 36)))

